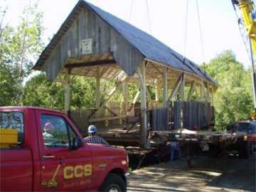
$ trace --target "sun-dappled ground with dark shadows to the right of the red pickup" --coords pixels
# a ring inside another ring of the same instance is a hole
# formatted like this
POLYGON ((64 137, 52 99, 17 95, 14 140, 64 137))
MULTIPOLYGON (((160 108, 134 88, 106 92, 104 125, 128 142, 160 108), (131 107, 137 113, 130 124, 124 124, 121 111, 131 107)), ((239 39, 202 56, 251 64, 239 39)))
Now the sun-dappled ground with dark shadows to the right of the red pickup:
POLYGON ((200 156, 188 168, 186 159, 133 171, 128 191, 256 191, 256 154, 200 156))

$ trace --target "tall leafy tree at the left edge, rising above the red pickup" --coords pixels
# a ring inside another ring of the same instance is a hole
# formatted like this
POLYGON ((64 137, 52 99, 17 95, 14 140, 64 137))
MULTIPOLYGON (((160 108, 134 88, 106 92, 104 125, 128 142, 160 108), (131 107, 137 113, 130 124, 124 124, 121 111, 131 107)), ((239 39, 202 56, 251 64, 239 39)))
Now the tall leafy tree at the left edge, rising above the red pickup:
POLYGON ((23 9, 17 28, 4 25, 6 8, 0 9, 0 105, 21 105, 23 80, 43 49, 42 13, 36 4, 23 9))

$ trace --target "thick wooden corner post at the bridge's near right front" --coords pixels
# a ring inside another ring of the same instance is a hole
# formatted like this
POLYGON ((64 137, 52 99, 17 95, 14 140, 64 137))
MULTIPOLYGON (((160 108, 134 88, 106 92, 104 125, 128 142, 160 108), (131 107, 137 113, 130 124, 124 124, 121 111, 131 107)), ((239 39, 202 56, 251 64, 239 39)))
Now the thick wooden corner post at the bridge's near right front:
POLYGON ((146 131, 147 131, 147 117, 146 117, 146 69, 145 69, 145 62, 139 65, 138 68, 139 72, 139 80, 140 80, 140 92, 141 92, 141 114, 142 114, 142 122, 140 127, 140 147, 147 148, 147 141, 146 141, 146 131))

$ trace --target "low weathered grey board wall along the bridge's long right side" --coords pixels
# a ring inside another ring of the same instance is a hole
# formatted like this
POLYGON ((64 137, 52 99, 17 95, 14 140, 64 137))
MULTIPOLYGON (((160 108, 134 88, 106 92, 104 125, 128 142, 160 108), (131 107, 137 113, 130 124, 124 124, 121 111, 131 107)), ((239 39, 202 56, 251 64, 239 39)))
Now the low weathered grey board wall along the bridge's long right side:
POLYGON ((214 108, 209 102, 173 102, 166 108, 149 111, 153 131, 170 129, 202 129, 214 124, 214 108), (167 122, 169 126, 167 126, 167 122))

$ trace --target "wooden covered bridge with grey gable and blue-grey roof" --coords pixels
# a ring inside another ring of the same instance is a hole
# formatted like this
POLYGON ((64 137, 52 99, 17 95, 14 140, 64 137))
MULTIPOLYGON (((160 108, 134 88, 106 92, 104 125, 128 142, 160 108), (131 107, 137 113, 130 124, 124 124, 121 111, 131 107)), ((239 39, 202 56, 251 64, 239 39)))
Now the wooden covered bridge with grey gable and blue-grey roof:
POLYGON ((78 1, 33 69, 63 84, 65 112, 82 134, 88 124, 97 124, 99 134, 112 144, 146 148, 151 132, 214 123, 213 92, 218 82, 153 36, 86 1, 78 1), (95 78, 94 109, 70 110, 72 75, 95 78), (117 82, 104 100, 102 79, 117 82), (132 83, 139 90, 129 100, 132 83), (120 87, 123 102, 110 102, 120 87))

